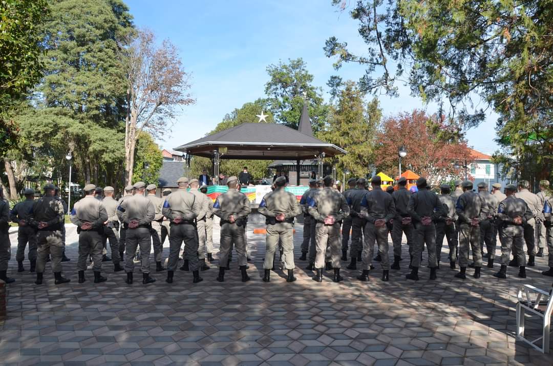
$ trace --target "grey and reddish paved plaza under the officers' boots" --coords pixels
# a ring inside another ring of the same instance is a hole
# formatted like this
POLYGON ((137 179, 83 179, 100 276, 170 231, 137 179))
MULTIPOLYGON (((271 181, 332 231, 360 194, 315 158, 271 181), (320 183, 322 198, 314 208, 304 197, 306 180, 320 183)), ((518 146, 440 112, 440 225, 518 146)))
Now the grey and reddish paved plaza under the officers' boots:
MULTIPOLYGON (((215 226, 218 229, 218 226, 215 226)), ((545 258, 518 279, 509 269, 499 281, 487 268, 481 280, 462 281, 442 266, 438 280, 405 280, 408 260, 380 281, 379 265, 369 283, 355 279, 357 271, 343 269, 336 284, 327 276, 311 280, 305 262, 296 261, 298 281, 288 284, 282 271, 271 282, 261 281, 265 237, 248 225, 252 280, 241 283, 236 260, 225 283, 215 281, 216 262, 202 272, 204 281, 192 284, 192 274, 177 271, 168 285, 166 273, 155 273, 155 284, 124 283, 124 272, 113 273, 105 263, 106 283, 95 285, 92 271, 77 283, 77 237, 67 226, 64 273, 70 284, 54 285, 48 265, 45 284, 34 274, 18 274, 17 234, 11 235, 12 260, 8 275, 8 319, 0 323, 1 364, 223 364, 223 365, 542 365, 542 355, 515 342, 517 286, 531 283, 549 289, 545 258)), ((296 225, 296 258, 302 236, 296 225)), ((218 232, 214 233, 216 247, 218 232)), ((446 250, 444 248, 444 250, 446 250)), ((164 258, 168 254, 165 243, 164 258)), ((217 250, 215 257, 217 258, 217 250)), ((498 252, 499 253, 499 252, 498 252)), ((390 256, 392 252, 390 251, 390 256)), ((404 258, 408 258, 406 247, 404 258)), ((444 259, 446 254, 444 254, 444 259)), ((236 256, 234 257, 236 258, 236 256)), ((345 267, 345 263, 343 263, 345 267)), ((28 261, 25 261, 28 270, 28 261)), ((155 268, 155 265, 152 266, 155 268)), ((467 271, 472 275, 472 270, 467 271)), ((135 268, 135 278, 140 279, 135 268)), ((535 323, 534 323, 535 325, 535 323)), ((527 321, 527 327, 534 326, 527 321)))

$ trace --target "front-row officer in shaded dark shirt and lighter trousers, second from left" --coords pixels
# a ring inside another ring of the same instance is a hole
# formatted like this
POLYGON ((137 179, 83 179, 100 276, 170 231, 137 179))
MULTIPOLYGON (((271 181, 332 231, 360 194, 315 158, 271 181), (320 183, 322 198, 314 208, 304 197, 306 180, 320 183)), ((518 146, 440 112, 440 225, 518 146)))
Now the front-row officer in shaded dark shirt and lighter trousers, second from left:
POLYGON ((43 281, 46 258, 50 255, 52 270, 54 271, 55 284, 69 282, 61 276, 61 258, 63 242, 61 239, 61 227, 64 225, 64 206, 54 197, 55 187, 49 183, 44 186, 44 196, 36 201, 33 211, 29 215, 29 224, 38 230, 36 245, 38 246, 36 258, 36 281, 40 285, 43 281))

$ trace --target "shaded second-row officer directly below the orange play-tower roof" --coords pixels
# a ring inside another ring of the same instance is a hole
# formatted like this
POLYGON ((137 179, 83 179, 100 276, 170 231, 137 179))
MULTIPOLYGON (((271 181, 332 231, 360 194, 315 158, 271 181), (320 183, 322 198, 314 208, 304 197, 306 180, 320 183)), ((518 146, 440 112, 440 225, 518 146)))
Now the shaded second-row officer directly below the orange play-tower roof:
POLYGON ((394 263, 392 264, 392 269, 400 269, 401 239, 403 239, 404 233, 407 238, 407 247, 409 248, 409 265, 413 262, 413 222, 411 222, 411 217, 407 212, 409 197, 411 197, 411 191, 407 189, 407 179, 400 177, 398 180, 398 190, 392 194, 395 206, 395 217, 392 222, 392 243, 394 244, 394 263))

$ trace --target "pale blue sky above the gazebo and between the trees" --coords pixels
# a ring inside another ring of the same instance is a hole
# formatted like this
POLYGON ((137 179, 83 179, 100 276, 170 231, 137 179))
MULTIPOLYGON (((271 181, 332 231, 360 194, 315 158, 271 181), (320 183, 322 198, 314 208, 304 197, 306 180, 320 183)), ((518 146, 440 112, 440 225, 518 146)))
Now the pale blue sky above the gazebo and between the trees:
MULTIPOLYGON (((364 68, 344 65, 335 71, 334 60, 324 55, 325 40, 334 35, 347 41, 353 53, 366 50, 357 33, 357 23, 338 12, 331 0, 127 0, 135 24, 152 29, 161 40, 170 39, 179 49, 182 62, 192 73, 192 95, 196 104, 185 107, 161 147, 174 148, 205 135, 226 113, 246 102, 264 97, 268 80, 265 70, 279 60, 302 57, 328 100, 326 82, 331 75, 358 80, 364 68)), ((372 97, 371 97, 372 98, 372 97)), ((434 113, 400 86, 400 97, 379 96, 384 115, 414 108, 434 113)), ((469 145, 493 153, 497 145, 495 117, 467 132, 469 145)))

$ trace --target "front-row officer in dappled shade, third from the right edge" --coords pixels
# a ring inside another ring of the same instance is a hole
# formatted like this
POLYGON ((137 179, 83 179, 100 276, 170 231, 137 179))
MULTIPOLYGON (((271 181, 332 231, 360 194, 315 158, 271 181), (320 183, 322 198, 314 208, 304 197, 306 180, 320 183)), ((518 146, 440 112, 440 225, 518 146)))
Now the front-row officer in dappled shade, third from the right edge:
POLYGON ((468 265, 468 250, 472 247, 474 259, 474 278, 480 278, 482 267, 482 251, 480 248, 480 223, 486 218, 482 211, 485 205, 481 196, 472 191, 472 182, 462 183, 463 194, 456 203, 456 212, 459 218, 459 266, 461 271, 456 278, 465 279, 468 265))

